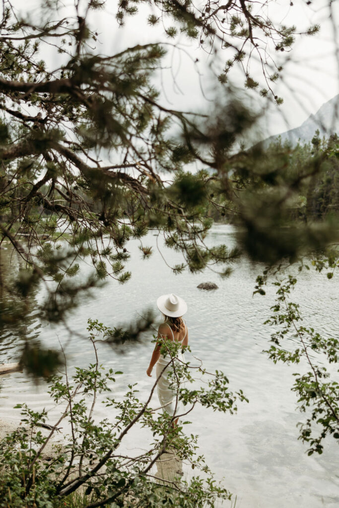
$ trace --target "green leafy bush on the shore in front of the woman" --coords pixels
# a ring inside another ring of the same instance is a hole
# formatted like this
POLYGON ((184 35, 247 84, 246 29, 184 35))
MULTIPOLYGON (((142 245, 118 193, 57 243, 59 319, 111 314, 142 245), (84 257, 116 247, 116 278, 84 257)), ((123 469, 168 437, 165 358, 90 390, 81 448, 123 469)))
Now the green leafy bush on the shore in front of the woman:
POLYGON ((46 411, 33 411, 26 404, 21 408, 22 424, 0 442, 0 461, 5 464, 0 484, 1 508, 61 508, 79 506, 138 506, 156 508, 179 504, 187 508, 214 506, 217 498, 230 499, 231 494, 213 479, 202 455, 196 456, 197 436, 187 436, 174 420, 186 417, 196 404, 223 412, 236 411, 236 401, 246 400, 242 391, 233 394, 227 377, 219 371, 207 373, 201 366, 191 366, 177 358, 180 344, 164 342, 162 352, 171 365, 170 378, 176 400, 184 408, 180 414, 169 416, 150 407, 153 385, 148 400, 138 399, 136 385, 129 385, 124 399, 107 396, 104 403, 111 407, 113 421, 94 421, 99 393, 110 392, 120 371, 105 371, 99 364, 96 341, 113 331, 98 321, 88 320, 89 339, 94 347, 96 362, 88 368, 76 368, 71 377, 67 367, 63 375, 50 379, 49 393, 55 403, 63 403, 64 410, 47 435, 35 429, 46 426, 46 411), (190 389, 193 372, 206 375, 204 388, 190 389), (184 383, 184 388, 182 386, 184 383), (68 421, 69 439, 52 444, 52 457, 46 457, 46 446, 51 442, 61 422, 68 421), (121 455, 119 447, 126 434, 135 425, 149 429, 152 435, 148 449, 138 457, 121 455), (166 452, 178 460, 189 462, 200 475, 190 480, 161 479, 152 474, 152 467, 166 452), (73 504, 72 504, 73 503, 73 504))

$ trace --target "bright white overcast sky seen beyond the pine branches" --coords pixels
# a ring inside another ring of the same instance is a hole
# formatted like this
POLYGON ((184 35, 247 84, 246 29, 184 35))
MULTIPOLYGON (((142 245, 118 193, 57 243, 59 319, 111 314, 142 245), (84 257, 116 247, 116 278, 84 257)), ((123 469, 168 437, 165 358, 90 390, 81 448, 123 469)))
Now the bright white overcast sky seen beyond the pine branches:
MULTIPOLYGON (((334 44, 336 36, 333 34, 333 24, 329 20, 329 1, 314 0, 310 6, 307 6, 304 0, 294 0, 293 7, 289 7, 290 2, 286 0, 280 2, 273 0, 269 4, 268 9, 273 20, 282 21, 286 25, 295 24, 300 31, 318 23, 321 25, 321 30, 313 37, 299 37, 293 51, 289 53, 291 60, 285 66, 284 80, 277 89, 278 95, 284 98, 284 104, 279 108, 275 104, 270 105, 260 124, 260 137, 280 133, 300 125, 310 113, 315 113, 324 102, 339 93, 339 74, 334 44)), ((38 0, 30 0, 28 6, 24 0, 14 0, 12 4, 17 6, 22 14, 26 13, 25 16, 28 16, 31 21, 33 19, 38 21, 41 17, 38 0)), ((332 4, 336 16, 334 26, 339 20, 337 4, 337 2, 332 4)), ((63 15, 65 12, 68 15, 74 15, 72 2, 63 5, 65 5, 63 15)), ((140 9, 139 14, 128 18, 124 27, 119 28, 115 20, 116 5, 116 0, 107 0, 103 11, 91 14, 92 27, 100 34, 97 43, 100 52, 114 54, 135 44, 164 41, 161 26, 149 27, 146 24, 148 10, 146 11, 144 7, 140 9)), ((198 48, 196 41, 187 41, 181 36, 179 42, 184 51, 171 48, 166 59, 166 65, 172 68, 176 76, 176 83, 173 82, 172 73, 169 70, 162 73, 162 98, 166 106, 171 105, 184 110, 197 109, 208 104, 206 99, 213 99, 215 93, 218 93, 218 86, 217 88, 212 86, 209 67, 218 71, 220 69, 221 72, 226 60, 225 52, 221 50, 217 55, 207 55, 198 48), (197 57, 200 79, 193 63, 197 57), (201 88, 204 89, 204 94, 201 88)), ((339 44, 339 40, 336 42, 339 44)), ((59 55, 51 50, 48 51, 43 54, 44 58, 50 67, 56 66, 56 58, 59 58, 59 55)), ((286 52, 283 56, 286 56, 286 52)), ((252 63, 251 73, 254 78, 260 78, 260 69, 255 62, 252 63)), ((242 89, 243 76, 234 72, 233 79, 235 85, 242 89)), ((260 109, 264 105, 267 107, 267 102, 261 100, 257 93, 252 96, 257 108, 260 109)))

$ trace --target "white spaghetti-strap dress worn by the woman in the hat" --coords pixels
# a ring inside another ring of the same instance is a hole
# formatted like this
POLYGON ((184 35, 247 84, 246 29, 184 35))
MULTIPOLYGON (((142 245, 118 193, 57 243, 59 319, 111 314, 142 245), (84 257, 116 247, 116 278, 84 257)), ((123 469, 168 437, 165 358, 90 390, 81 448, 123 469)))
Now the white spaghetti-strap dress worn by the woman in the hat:
MULTIPOLYGON (((172 332, 173 341, 174 341, 174 334, 173 334, 173 331, 170 326, 169 326, 169 329, 172 332)), ((187 327, 185 325, 184 337, 182 340, 180 340, 178 342, 182 343, 184 338, 186 337, 186 334, 187 334, 187 327)), ((170 359, 171 358, 169 355, 166 355, 165 358, 163 355, 160 355, 160 358, 157 362, 157 370, 156 370, 157 379, 160 376, 165 365, 167 365, 168 362, 170 361, 170 359)), ((178 362, 178 360, 181 362, 185 361, 183 353, 181 353, 181 349, 178 351, 178 353, 174 359, 174 364, 175 364, 175 362, 178 362)), ((160 379, 158 381, 157 389, 158 389, 159 402, 160 402, 160 405, 162 406, 163 412, 167 412, 170 416, 173 416, 175 414, 176 415, 180 414, 181 404, 177 400, 177 391, 175 390, 175 386, 174 387, 172 386, 172 388, 170 388, 171 383, 167 379, 168 373, 171 370, 173 370, 173 363, 172 362, 169 364, 168 367, 166 367, 164 372, 161 374, 160 379)))

